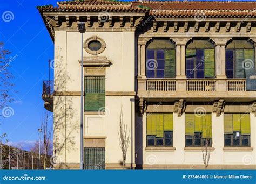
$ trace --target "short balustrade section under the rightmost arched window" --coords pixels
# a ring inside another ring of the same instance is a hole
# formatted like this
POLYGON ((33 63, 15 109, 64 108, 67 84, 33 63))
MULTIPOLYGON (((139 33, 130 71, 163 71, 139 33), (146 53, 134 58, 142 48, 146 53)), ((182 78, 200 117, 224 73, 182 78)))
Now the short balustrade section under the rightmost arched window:
POLYGON ((246 79, 228 79, 227 91, 246 91, 246 79))

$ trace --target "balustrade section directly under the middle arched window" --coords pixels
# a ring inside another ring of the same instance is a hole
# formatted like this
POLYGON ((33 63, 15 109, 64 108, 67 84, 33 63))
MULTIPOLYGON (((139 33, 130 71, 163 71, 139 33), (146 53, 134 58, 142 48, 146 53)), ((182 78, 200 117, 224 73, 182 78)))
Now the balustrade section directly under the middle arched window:
POLYGON ((215 91, 216 80, 214 79, 188 79, 187 91, 215 91))

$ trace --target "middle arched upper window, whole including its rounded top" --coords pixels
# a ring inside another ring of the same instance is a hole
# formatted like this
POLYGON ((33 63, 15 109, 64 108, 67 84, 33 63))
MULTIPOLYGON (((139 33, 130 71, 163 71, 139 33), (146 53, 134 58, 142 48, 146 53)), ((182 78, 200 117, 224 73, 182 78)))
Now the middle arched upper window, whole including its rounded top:
POLYGON ((193 40, 186 48, 187 78, 214 78, 214 45, 208 40, 193 40))

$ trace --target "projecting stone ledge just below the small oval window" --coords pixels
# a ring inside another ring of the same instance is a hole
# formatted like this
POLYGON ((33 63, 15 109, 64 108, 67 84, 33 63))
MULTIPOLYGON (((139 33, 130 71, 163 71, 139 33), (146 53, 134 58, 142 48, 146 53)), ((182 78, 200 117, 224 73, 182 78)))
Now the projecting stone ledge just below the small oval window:
MULTIPOLYGON (((78 61, 81 64, 81 60, 78 61)), ((110 60, 108 60, 105 56, 92 56, 92 57, 84 57, 83 66, 109 66, 111 64, 110 60)))

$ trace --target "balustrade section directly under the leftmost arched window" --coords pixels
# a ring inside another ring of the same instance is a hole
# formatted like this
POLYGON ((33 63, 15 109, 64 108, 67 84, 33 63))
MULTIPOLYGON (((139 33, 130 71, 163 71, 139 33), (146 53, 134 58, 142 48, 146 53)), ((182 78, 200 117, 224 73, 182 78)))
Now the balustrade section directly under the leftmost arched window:
POLYGON ((175 79, 148 79, 147 91, 175 91, 175 79))

